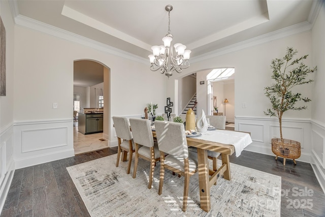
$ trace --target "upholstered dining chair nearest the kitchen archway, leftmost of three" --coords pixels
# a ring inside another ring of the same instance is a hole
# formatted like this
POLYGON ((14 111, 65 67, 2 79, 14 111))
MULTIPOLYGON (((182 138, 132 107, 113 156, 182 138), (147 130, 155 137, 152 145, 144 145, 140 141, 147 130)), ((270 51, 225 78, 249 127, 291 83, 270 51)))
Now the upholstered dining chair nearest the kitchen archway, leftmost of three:
POLYGON ((135 152, 135 144, 132 139, 131 129, 126 117, 113 116, 112 118, 118 143, 116 167, 118 167, 121 152, 128 152, 128 164, 126 173, 129 174, 132 163, 132 155, 133 152, 135 152))

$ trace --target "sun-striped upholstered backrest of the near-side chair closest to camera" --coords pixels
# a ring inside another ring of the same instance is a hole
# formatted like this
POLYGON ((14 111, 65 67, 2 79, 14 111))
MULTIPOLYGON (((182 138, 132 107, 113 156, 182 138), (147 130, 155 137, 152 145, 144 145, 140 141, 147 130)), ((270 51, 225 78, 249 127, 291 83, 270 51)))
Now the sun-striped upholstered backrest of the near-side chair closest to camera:
POLYGON ((155 120, 156 137, 160 151, 180 158, 188 158, 183 123, 155 120))

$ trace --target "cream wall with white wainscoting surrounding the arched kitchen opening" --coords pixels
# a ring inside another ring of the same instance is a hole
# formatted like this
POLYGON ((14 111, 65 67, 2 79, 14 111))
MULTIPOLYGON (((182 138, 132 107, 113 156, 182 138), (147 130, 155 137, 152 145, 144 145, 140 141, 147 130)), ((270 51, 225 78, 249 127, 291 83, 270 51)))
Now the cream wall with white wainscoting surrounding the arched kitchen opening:
MULTIPOLYGON (((16 168, 74 155, 71 104, 76 59, 93 59, 110 68, 107 91, 111 93, 111 116, 140 117, 148 102, 157 103, 158 112, 163 112, 167 78, 150 71, 142 60, 112 55, 105 49, 94 49, 20 26, 15 26, 15 43, 15 61, 19 63, 14 72, 16 168), (52 108, 53 102, 58 103, 57 109, 52 108), (49 141, 53 142, 49 144, 49 141)), ((111 116, 105 117, 106 121, 111 116)), ((114 146, 117 139, 112 125, 110 122, 107 137, 114 146)))

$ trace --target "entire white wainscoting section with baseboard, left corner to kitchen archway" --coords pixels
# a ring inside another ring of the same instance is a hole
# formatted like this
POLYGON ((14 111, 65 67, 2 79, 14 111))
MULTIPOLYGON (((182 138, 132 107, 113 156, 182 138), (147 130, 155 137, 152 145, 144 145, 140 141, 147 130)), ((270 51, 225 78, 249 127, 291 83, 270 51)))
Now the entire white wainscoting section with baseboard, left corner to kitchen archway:
POLYGON ((73 120, 35 120, 14 125, 15 168, 74 156, 73 120))

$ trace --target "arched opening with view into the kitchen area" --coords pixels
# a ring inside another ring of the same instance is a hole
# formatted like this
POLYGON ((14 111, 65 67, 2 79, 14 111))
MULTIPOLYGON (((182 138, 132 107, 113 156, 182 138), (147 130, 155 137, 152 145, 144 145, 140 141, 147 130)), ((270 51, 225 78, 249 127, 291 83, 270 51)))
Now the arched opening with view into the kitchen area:
POLYGON ((110 69, 99 61, 74 61, 75 154, 109 147, 110 69), (79 102, 75 100, 80 99, 79 102), (78 105, 79 104, 79 108, 78 105))

